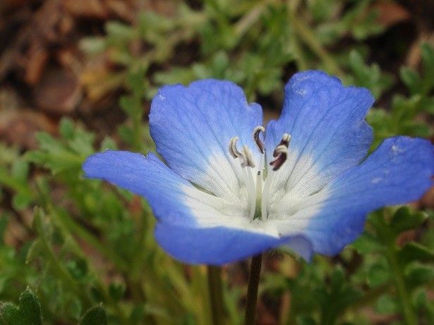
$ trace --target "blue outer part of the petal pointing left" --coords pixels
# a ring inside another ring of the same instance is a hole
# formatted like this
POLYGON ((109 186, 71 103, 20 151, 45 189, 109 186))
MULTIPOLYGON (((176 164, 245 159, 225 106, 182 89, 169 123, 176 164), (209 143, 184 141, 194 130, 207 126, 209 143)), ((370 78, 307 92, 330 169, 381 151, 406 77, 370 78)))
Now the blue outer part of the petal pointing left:
POLYGON ((183 186, 191 186, 155 154, 107 150, 93 154, 83 164, 88 178, 99 178, 130 190, 147 199, 157 219, 171 223, 194 225, 195 219, 184 204, 183 186))

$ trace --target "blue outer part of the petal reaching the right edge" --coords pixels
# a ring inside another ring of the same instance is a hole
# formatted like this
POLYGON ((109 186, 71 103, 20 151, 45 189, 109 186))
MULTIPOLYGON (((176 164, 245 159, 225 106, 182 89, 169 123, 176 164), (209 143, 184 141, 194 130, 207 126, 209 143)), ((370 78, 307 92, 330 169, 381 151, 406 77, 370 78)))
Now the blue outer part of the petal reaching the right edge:
POLYGON ((385 140, 363 164, 323 189, 328 199, 318 203, 320 213, 312 217, 304 232, 313 250, 337 254, 363 231, 370 211, 417 200, 433 185, 433 175, 434 147, 428 140, 385 140))

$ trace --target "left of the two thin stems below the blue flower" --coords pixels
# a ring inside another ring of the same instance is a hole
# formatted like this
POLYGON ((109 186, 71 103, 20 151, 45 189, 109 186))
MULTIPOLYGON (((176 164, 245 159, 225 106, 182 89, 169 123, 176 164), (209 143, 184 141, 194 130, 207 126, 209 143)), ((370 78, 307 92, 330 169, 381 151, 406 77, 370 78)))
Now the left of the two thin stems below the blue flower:
POLYGON ((222 270, 218 266, 207 266, 208 288, 210 291, 210 303, 212 313, 212 324, 224 324, 222 270))

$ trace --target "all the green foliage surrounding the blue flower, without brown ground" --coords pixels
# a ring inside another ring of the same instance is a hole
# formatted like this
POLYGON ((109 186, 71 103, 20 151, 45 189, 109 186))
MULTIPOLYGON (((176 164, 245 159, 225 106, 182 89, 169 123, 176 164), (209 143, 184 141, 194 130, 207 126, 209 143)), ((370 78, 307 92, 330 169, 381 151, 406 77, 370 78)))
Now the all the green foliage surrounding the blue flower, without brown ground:
MULTIPOLYGON (((143 200, 82 176, 81 164, 95 151, 155 149, 143 103, 159 85, 224 78, 249 99, 278 105, 291 72, 320 68, 368 87, 381 103, 368 115, 373 147, 392 135, 433 135, 434 49, 421 44, 420 70, 402 67, 399 78, 369 62, 375 49, 364 41, 384 32, 371 4, 219 0, 193 10, 177 2, 171 17, 138 13, 134 25, 111 21, 104 37, 83 39, 88 55, 105 51, 119 66, 108 82, 128 90, 119 103, 127 118, 97 144, 94 133, 64 118, 59 137, 37 135, 38 149, 0 145, 0 198, 11 196, 11 207, 0 210, 0 321, 210 324, 206 269, 184 266, 159 249, 143 200), (132 44, 147 50, 137 53, 132 44), (178 58, 181 46, 193 53, 178 58), (6 245, 8 225, 25 213, 32 215, 23 222, 29 239, 6 245)), ((260 293, 281 306, 279 324, 370 324, 370 313, 395 315, 394 324, 434 324, 433 216, 409 207, 376 211, 365 233, 334 259, 306 264, 283 255, 260 293), (416 235, 403 240, 409 232, 416 235)), ((227 322, 241 324, 245 288, 229 274, 227 322)))

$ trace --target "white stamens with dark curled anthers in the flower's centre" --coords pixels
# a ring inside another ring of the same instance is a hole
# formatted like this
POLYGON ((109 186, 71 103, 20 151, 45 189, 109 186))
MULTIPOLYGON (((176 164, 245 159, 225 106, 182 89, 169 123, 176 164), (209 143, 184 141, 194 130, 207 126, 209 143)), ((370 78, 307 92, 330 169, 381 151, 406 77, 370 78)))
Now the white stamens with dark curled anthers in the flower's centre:
POLYGON ((240 159, 241 161, 241 172, 247 190, 248 218, 251 220, 267 219, 270 212, 270 188, 276 171, 287 160, 289 141, 291 140, 291 135, 287 133, 282 135, 282 140, 273 152, 275 159, 269 163, 272 168, 268 168, 265 146, 260 140, 261 132, 265 133, 265 128, 262 125, 257 126, 253 130, 253 140, 255 140, 255 144, 260 152, 256 179, 253 178, 253 168, 256 165, 255 161, 253 161, 251 150, 247 145, 241 148, 241 152, 237 149, 236 142, 239 140, 239 137, 232 137, 229 140, 229 153, 234 159, 240 159))

